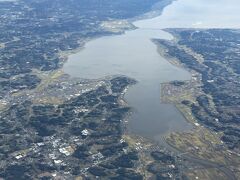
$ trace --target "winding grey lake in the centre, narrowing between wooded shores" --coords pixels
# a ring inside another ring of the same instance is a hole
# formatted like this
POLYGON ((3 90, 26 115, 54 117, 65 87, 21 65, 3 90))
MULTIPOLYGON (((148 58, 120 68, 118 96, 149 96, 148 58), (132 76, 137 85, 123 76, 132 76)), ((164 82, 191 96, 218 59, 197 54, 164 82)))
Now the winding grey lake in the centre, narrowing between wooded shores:
POLYGON ((123 74, 136 79, 138 83, 125 96, 134 110, 129 129, 147 137, 189 127, 173 105, 160 103, 160 83, 186 80, 190 74, 162 58, 151 38, 172 36, 162 30, 137 29, 124 35, 102 37, 69 56, 64 66, 64 71, 75 77, 96 79, 123 74))

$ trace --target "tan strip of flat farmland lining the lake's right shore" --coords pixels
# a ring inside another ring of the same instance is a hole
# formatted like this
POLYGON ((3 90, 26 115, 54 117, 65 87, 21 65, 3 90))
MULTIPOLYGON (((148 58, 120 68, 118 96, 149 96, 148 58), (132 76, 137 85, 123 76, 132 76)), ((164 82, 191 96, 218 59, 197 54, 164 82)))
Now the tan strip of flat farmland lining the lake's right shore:
MULTIPOLYGON (((173 41, 177 42, 177 40, 177 37, 175 37, 173 41)), ((222 172, 226 177, 235 179, 234 173, 227 166, 229 162, 235 161, 234 156, 231 156, 227 148, 223 145, 223 142, 220 139, 222 136, 221 133, 213 132, 211 129, 200 125, 198 120, 192 114, 191 109, 182 104, 183 100, 197 103, 197 96, 203 94, 201 90, 201 76, 196 71, 186 68, 177 58, 169 57, 166 48, 160 44, 158 44, 158 52, 168 62, 187 70, 192 75, 191 80, 182 81, 184 85, 181 86, 176 87, 171 84, 172 82, 161 84, 162 102, 174 104, 174 106, 183 114, 186 121, 193 125, 193 129, 189 132, 171 133, 164 136, 163 141, 165 141, 166 147, 169 147, 169 150, 178 151, 179 154, 189 154, 189 157, 186 156, 189 161, 192 161, 192 158, 193 161, 197 160, 199 164, 206 161, 206 163, 210 163, 211 166, 215 166, 215 168, 222 172), (192 90, 190 90, 190 88, 192 88, 192 90), (211 143, 208 143, 207 141, 210 141, 211 143), (215 151, 214 149, 217 149, 218 146, 222 146, 223 148, 215 151), (222 167, 219 168, 217 166, 222 167)), ((183 156, 185 157, 185 155, 183 156)))

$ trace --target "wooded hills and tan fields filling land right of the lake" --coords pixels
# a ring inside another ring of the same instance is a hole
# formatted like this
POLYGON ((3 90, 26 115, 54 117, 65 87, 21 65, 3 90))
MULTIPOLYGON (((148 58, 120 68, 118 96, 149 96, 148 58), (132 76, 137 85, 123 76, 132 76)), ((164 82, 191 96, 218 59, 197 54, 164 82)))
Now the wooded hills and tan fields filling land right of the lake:
POLYGON ((162 101, 174 103, 194 124, 194 129, 172 134, 166 141, 189 156, 228 167, 237 177, 240 160, 239 31, 168 31, 176 38, 155 40, 162 48, 159 52, 173 64, 188 69, 192 79, 163 84, 162 101))

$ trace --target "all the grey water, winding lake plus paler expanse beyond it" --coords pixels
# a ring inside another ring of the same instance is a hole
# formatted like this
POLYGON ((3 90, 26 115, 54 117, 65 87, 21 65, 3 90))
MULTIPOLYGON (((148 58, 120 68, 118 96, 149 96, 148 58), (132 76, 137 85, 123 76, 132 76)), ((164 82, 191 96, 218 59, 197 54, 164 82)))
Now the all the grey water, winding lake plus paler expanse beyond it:
POLYGON ((134 133, 156 139, 169 132, 188 130, 191 125, 173 105, 160 103, 160 83, 188 80, 191 76, 161 57, 151 39, 171 40, 171 34, 161 30, 169 27, 236 28, 239 12, 237 0, 175 1, 161 16, 134 22, 136 30, 88 42, 82 51, 69 56, 64 71, 88 79, 110 75, 136 79, 138 83, 125 96, 133 107, 129 130, 134 133))

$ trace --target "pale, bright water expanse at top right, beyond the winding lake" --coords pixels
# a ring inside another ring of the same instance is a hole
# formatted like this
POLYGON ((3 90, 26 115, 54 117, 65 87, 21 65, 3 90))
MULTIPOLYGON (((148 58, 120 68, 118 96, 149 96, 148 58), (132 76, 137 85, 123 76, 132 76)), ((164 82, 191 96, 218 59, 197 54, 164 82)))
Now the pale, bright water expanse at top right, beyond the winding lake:
POLYGON ((177 0, 167 6, 161 17, 140 27, 240 28, 240 0, 177 0))

